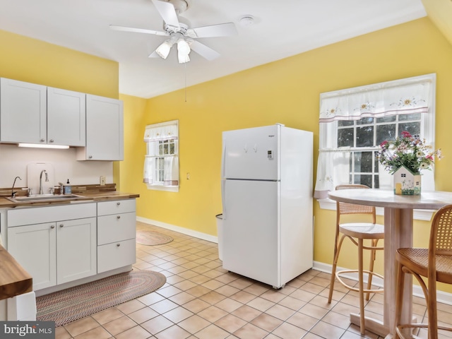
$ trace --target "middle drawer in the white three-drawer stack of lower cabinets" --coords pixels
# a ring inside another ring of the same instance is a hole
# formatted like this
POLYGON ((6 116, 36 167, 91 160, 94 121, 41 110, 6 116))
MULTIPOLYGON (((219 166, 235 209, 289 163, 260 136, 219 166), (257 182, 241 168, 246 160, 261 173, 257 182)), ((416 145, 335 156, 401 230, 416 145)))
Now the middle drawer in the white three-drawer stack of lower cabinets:
POLYGON ((136 237, 135 213, 103 215, 97 217, 97 244, 109 244, 136 237))

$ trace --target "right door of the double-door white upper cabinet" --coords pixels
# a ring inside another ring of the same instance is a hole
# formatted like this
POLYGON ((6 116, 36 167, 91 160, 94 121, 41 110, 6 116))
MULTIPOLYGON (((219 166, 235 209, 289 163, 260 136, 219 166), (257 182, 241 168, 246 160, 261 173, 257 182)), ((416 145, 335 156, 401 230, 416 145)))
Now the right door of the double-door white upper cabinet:
POLYGON ((85 145, 85 93, 47 88, 47 143, 85 145))

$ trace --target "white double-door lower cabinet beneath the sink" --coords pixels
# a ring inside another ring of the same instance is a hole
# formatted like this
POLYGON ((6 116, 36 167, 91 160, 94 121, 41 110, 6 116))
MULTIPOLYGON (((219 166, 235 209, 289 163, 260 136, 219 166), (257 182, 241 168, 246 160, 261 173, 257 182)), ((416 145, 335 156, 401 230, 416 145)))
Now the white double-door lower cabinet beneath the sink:
POLYGON ((33 290, 97 273, 95 216, 95 203, 8 210, 8 252, 32 275, 33 290))

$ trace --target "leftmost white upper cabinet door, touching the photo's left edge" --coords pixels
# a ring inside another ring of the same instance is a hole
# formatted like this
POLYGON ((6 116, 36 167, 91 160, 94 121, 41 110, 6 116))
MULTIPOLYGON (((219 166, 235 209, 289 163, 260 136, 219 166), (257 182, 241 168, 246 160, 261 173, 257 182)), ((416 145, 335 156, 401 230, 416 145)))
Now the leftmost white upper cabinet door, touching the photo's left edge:
POLYGON ((47 87, 0 79, 0 141, 47 143, 47 87))

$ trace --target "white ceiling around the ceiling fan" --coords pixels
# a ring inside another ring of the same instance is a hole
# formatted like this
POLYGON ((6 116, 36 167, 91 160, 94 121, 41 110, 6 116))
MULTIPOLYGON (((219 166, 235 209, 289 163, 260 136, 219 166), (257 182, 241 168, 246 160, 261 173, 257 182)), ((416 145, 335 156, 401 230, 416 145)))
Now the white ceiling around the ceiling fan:
MULTIPOLYGON (((187 0, 191 27, 233 22, 239 35, 198 39, 221 54, 178 64, 148 58, 166 37, 150 0, 0 0, 0 29, 119 62, 119 93, 154 97, 427 15, 421 0, 187 0), (239 23, 254 16, 254 25, 239 23)), ((2 46, 2 48, 7 48, 2 46)), ((173 48, 174 49, 174 48, 173 48)))

